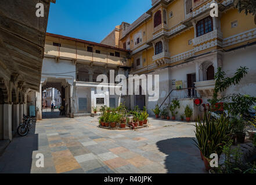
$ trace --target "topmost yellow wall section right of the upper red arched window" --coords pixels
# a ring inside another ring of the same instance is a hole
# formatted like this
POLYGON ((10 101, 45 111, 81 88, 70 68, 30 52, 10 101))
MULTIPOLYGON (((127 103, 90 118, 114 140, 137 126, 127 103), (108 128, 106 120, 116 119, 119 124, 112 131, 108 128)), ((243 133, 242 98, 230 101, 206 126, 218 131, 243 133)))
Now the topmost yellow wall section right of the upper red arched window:
POLYGON ((185 18, 184 1, 174 1, 167 7, 167 23, 168 28, 172 28, 175 25, 181 23, 185 18), (173 16, 169 18, 169 14, 172 12, 173 16))

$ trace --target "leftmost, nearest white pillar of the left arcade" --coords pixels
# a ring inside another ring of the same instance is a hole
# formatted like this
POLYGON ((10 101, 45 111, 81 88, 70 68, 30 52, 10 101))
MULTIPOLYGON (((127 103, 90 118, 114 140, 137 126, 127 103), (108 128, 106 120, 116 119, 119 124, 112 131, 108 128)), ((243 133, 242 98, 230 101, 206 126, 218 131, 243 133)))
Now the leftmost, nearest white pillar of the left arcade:
POLYGON ((3 139, 12 140, 12 105, 3 105, 3 139))

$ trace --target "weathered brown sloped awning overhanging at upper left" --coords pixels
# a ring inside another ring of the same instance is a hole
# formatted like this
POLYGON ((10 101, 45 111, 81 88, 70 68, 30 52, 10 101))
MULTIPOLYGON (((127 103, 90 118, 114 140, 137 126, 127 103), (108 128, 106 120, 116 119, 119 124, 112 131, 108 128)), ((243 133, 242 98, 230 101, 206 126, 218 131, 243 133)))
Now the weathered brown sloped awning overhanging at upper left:
POLYGON ((0 77, 39 91, 51 2, 0 1, 0 77), (35 15, 38 2, 44 4, 44 17, 35 15))

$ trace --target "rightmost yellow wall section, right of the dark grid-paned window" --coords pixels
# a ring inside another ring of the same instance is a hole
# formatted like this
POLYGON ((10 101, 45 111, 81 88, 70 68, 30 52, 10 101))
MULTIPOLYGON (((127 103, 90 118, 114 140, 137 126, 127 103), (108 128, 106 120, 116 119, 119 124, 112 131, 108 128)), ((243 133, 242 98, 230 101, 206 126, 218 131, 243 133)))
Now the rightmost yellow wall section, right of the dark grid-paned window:
POLYGON ((221 31, 223 38, 240 34, 241 32, 256 28, 254 24, 254 16, 251 14, 239 13, 237 9, 230 9, 228 12, 223 13, 221 17, 221 31), (237 27, 232 28, 231 23, 237 20, 237 27))

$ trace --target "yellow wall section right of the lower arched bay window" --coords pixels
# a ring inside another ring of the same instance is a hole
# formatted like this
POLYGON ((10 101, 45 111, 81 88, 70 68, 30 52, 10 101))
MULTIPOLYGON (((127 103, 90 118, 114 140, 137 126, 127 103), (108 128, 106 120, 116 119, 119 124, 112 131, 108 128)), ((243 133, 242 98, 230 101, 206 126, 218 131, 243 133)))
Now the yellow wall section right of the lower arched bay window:
POLYGON ((170 39, 169 49, 171 56, 176 56, 177 54, 184 53, 186 51, 193 49, 193 44, 189 45, 189 40, 194 38, 194 28, 183 32, 181 35, 175 36, 170 39))

